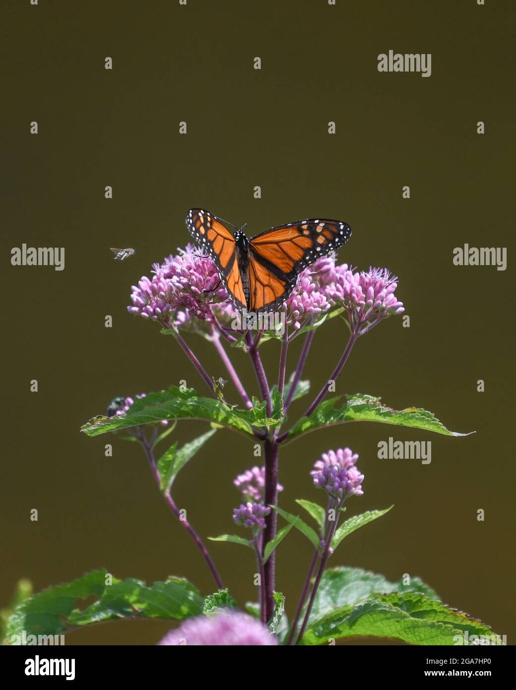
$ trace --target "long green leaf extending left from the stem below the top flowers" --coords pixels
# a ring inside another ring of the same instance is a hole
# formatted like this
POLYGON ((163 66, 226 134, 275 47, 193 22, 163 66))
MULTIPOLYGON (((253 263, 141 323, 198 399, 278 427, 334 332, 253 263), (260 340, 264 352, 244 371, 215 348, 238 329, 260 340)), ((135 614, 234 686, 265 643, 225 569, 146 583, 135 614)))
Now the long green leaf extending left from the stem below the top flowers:
MULTIPOLYGON (((125 415, 93 417, 81 427, 88 436, 98 436, 108 431, 154 424, 160 420, 201 420, 216 422, 244 435, 254 435, 252 426, 272 426, 281 421, 278 417, 268 419, 264 414, 265 404, 260 403, 252 410, 235 410, 210 397, 201 397, 193 388, 181 391, 171 386, 167 391, 148 393, 138 398, 125 415)), ((278 410, 277 410, 278 413, 278 410)))

